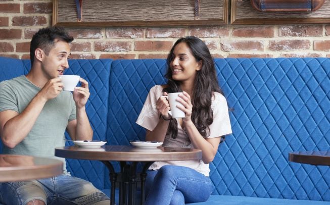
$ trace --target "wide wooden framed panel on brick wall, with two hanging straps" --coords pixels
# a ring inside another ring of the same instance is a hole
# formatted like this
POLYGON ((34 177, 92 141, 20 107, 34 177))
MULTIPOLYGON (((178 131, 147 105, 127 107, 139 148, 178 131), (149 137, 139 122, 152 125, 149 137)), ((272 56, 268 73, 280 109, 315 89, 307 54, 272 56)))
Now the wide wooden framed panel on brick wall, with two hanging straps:
POLYGON ((193 0, 83 0, 81 21, 75 1, 53 1, 53 25, 190 26, 228 24, 229 0, 201 0, 196 20, 193 0))

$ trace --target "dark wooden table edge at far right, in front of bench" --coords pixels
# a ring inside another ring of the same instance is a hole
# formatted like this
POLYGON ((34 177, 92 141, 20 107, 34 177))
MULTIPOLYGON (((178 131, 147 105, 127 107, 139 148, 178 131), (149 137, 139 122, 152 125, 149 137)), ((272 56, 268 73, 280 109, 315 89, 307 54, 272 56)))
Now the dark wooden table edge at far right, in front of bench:
POLYGON ((310 165, 330 166, 330 151, 295 151, 289 153, 289 161, 310 165))

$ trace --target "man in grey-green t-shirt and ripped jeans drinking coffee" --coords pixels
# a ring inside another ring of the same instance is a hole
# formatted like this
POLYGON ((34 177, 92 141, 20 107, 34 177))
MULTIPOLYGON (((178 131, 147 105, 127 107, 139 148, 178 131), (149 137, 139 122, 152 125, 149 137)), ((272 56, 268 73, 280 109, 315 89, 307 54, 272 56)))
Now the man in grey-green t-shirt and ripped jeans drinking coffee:
MULTIPOLYGON (((63 28, 40 29, 31 40, 30 72, 0 83, 4 153, 54 157, 54 148, 65 144, 65 130, 72 140, 92 139, 85 111, 89 97, 87 81, 80 78, 81 87, 71 93, 63 91, 58 78, 69 67, 72 40, 63 28)), ((64 174, 53 178, 0 183, 0 202, 109 204, 110 200, 90 182, 70 176, 64 168, 64 174)))

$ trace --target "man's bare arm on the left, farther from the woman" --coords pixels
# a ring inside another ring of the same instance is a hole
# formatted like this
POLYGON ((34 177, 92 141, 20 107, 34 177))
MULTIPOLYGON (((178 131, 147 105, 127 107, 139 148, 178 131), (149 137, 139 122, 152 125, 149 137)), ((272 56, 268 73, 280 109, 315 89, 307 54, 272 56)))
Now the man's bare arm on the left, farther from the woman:
POLYGON ((0 135, 7 147, 14 148, 28 135, 46 101, 55 98, 61 92, 63 84, 60 80, 54 78, 46 83, 22 113, 11 110, 0 112, 0 135))

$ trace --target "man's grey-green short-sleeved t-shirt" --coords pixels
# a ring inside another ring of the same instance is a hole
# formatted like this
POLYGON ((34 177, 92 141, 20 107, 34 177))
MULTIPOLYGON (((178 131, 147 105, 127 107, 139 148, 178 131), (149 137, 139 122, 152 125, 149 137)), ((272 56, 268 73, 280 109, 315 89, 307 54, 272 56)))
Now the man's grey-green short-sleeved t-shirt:
MULTIPOLYGON (((0 112, 22 113, 40 88, 24 75, 0 83, 0 112)), ((31 155, 56 158, 55 147, 65 145, 64 132, 68 122, 76 119, 76 107, 71 92, 63 91, 44 105, 29 134, 14 148, 4 145, 3 152, 13 155, 31 155)), ((65 159, 57 158, 64 163, 65 159)))

